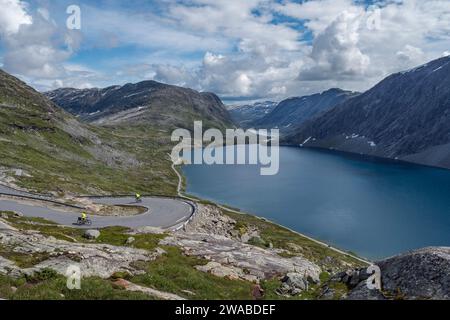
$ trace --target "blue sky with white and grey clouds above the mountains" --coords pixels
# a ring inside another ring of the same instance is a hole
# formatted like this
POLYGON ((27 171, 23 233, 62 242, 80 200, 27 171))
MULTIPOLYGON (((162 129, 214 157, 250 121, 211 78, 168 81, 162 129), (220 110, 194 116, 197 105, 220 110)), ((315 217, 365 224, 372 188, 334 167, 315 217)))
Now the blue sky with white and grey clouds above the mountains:
POLYGON ((0 67, 38 90, 145 79, 233 103, 340 87, 450 54, 450 0, 0 0, 0 67), (69 5, 81 9, 70 30, 69 5))

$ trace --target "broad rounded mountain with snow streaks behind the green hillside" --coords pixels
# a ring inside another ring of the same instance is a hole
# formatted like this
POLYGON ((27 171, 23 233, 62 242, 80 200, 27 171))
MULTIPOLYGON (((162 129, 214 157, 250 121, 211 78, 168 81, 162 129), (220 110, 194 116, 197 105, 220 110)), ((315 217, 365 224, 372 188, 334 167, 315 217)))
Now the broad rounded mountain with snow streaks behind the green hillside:
POLYGON ((46 93, 57 105, 82 120, 103 125, 153 124, 192 127, 194 120, 225 128, 232 120, 213 93, 143 81, 104 89, 62 88, 46 93))

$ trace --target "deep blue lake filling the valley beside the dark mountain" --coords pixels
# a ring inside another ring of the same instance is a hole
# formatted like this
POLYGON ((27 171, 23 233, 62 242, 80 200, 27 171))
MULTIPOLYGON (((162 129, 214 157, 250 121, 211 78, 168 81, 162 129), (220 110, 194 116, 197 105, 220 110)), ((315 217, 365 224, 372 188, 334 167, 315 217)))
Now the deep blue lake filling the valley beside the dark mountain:
POLYGON ((280 148, 280 170, 189 165, 189 194, 269 218, 377 259, 450 246, 450 170, 343 153, 280 148))

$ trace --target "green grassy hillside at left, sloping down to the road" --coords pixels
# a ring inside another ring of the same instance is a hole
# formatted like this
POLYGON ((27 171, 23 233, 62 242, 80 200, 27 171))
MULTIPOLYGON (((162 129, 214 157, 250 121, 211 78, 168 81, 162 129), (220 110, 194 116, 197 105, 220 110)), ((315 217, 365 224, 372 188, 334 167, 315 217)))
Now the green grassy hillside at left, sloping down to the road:
POLYGON ((19 79, 0 70, 0 180, 38 192, 175 194, 167 153, 156 130, 80 123, 19 79))

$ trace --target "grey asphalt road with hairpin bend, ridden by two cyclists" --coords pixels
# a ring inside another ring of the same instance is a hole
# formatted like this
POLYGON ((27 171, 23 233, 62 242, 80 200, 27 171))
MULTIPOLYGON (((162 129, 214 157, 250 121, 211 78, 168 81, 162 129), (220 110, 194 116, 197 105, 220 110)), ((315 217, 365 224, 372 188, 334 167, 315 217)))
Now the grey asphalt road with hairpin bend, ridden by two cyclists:
MULTIPOLYGON (((107 205, 138 205, 146 208, 146 212, 134 216, 97 216, 89 215, 92 225, 80 228, 104 228, 122 226, 129 228, 157 227, 174 229, 182 226, 196 211, 194 203, 175 198, 142 197, 142 202, 136 203, 134 197, 99 197, 90 198, 94 203, 107 205)), ((63 205, 48 206, 53 199, 11 189, 0 185, 0 210, 16 211, 26 217, 44 218, 61 225, 75 226, 74 222, 80 216, 81 208, 63 205), (5 197, 6 196, 6 197, 5 197), (30 203, 29 200, 33 200, 30 203)))

